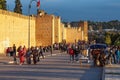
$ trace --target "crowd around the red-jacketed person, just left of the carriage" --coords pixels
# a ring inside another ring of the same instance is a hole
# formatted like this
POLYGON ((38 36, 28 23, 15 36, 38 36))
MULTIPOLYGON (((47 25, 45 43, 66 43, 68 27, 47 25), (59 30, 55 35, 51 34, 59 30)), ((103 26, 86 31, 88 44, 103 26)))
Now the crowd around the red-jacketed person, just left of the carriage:
POLYGON ((70 62, 79 62, 80 57, 90 57, 88 53, 89 44, 81 41, 76 43, 63 44, 62 51, 66 51, 70 56, 70 62), (66 46, 66 47, 65 47, 66 46))

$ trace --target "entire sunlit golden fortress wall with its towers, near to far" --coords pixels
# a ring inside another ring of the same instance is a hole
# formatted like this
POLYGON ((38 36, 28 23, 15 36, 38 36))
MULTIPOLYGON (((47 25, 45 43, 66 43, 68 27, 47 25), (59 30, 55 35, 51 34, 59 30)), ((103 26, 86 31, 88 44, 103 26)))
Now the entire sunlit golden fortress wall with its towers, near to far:
POLYGON ((48 15, 44 11, 37 17, 29 17, 9 11, 0 10, 0 53, 16 44, 28 47, 30 27, 30 46, 48 46, 66 40, 74 43, 88 40, 88 23, 79 23, 78 28, 65 27, 61 18, 48 15), (29 26, 30 25, 30 26, 29 26))

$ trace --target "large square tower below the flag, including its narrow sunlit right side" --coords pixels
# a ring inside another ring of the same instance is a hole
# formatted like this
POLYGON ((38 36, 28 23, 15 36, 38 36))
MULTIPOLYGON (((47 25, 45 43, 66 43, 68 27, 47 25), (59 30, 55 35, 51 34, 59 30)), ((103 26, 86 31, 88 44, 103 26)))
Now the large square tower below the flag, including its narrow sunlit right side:
POLYGON ((61 42, 61 20, 54 15, 43 14, 36 19, 36 45, 47 46, 61 42))

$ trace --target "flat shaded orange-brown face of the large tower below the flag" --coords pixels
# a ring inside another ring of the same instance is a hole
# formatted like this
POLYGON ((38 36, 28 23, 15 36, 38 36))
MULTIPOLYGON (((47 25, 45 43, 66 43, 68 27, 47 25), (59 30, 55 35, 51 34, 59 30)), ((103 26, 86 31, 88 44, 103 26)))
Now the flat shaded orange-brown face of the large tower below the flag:
POLYGON ((36 45, 47 46, 52 43, 53 15, 37 16, 36 45))

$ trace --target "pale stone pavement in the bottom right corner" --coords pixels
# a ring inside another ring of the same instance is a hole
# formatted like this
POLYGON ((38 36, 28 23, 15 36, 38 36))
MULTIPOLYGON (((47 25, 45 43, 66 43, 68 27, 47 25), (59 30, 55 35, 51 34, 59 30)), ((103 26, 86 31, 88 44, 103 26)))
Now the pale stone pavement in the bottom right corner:
POLYGON ((120 64, 107 65, 104 71, 105 80, 120 80, 120 64))

